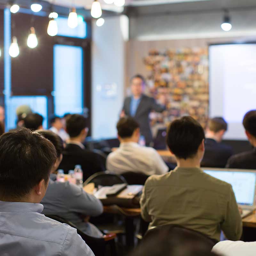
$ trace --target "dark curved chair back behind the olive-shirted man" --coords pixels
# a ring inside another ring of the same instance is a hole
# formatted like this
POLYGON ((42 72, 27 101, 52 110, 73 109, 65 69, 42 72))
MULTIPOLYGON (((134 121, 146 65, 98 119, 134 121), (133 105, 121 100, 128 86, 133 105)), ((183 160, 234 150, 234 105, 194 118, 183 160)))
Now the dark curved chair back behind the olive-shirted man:
POLYGON ((149 229, 143 237, 142 241, 145 242, 163 234, 170 237, 170 239, 172 240, 173 237, 176 237, 180 243, 186 243, 187 241, 190 241, 194 244, 200 244, 207 249, 209 248, 209 251, 211 251, 212 247, 218 242, 198 231, 173 224, 158 226, 156 228, 149 229))

